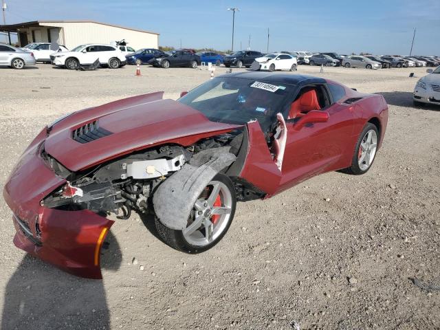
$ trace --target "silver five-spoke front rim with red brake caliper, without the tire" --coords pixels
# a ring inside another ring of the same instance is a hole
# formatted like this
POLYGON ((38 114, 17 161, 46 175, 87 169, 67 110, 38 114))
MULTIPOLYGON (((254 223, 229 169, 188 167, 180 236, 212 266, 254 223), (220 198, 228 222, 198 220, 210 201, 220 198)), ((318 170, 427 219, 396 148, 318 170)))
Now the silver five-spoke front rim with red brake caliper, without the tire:
POLYGON ((199 248, 215 241, 228 228, 232 212, 232 194, 223 182, 210 181, 194 204, 184 239, 199 248))

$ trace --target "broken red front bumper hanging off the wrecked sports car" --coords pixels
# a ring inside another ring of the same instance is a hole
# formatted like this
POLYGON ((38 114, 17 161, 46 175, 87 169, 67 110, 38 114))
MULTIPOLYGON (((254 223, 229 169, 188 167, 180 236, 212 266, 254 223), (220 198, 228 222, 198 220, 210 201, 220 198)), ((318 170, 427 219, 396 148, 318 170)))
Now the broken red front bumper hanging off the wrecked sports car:
POLYGON ((41 200, 65 179, 45 165, 39 149, 46 129, 23 153, 3 190, 11 208, 14 244, 57 267, 85 278, 102 278, 100 249, 113 221, 89 210, 45 208, 41 200))

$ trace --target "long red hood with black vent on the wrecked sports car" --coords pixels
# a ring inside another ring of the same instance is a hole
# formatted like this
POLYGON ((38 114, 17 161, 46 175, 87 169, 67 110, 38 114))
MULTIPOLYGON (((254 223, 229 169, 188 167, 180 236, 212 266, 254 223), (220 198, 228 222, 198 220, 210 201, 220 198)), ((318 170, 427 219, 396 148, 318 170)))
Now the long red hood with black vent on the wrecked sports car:
POLYGON ((45 151, 76 172, 164 142, 188 146, 241 126, 211 122, 185 104, 162 100, 162 95, 135 96, 73 113, 50 129, 45 151), (93 133, 108 135, 87 143, 74 140, 74 131, 92 122, 99 126, 93 133))

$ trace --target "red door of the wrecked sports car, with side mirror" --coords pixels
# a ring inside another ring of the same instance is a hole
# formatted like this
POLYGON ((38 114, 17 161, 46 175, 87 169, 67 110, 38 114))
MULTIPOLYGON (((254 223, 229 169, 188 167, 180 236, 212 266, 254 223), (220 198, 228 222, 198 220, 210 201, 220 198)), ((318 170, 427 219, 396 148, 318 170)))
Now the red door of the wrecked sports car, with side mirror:
MULTIPOLYGON (((343 100, 344 88, 336 86, 340 88, 338 97, 343 100)), ((314 175, 338 169, 346 155, 348 142, 353 138, 353 107, 340 100, 333 100, 327 84, 304 86, 298 96, 309 91, 316 92, 320 108, 316 111, 327 113, 328 121, 306 124, 297 130, 298 121, 311 110, 300 117, 287 120, 287 141, 279 191, 286 190, 314 175)), ((294 102, 301 102, 298 96, 294 102)), ((315 107, 309 109, 313 108, 315 107)))

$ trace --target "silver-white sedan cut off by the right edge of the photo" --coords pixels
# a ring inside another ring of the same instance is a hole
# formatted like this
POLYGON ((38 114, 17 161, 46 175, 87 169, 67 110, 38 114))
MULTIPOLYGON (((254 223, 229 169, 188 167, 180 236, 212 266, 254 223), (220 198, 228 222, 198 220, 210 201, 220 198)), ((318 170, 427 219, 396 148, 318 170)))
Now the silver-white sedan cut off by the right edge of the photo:
POLYGON ((434 71, 427 69, 426 72, 428 76, 421 77, 414 87, 414 105, 421 105, 422 102, 440 105, 440 67, 434 71))

